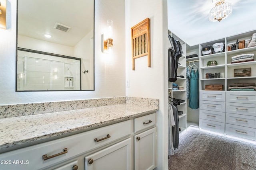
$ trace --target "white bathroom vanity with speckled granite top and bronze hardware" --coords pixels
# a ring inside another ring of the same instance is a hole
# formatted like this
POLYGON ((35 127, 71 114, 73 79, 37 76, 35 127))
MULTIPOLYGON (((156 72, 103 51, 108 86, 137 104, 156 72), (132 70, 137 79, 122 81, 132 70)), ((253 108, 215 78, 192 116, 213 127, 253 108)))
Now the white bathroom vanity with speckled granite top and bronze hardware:
POLYGON ((158 107, 158 100, 126 98, 122 104, 2 118, 0 167, 154 169, 158 107))

